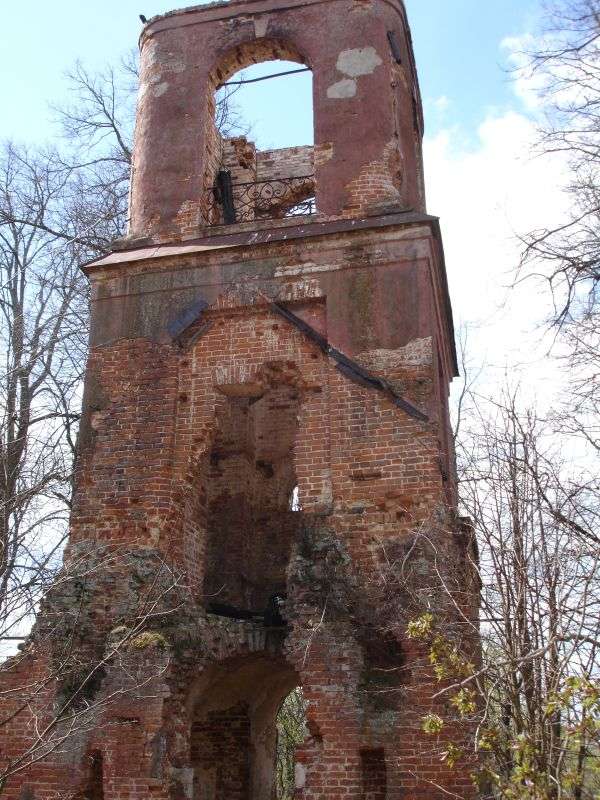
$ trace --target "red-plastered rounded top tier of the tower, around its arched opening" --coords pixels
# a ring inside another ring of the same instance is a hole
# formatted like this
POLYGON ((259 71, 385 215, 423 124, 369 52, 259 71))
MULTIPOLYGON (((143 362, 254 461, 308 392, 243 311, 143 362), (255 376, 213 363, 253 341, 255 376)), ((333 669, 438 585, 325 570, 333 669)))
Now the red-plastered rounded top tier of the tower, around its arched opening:
MULTIPOLYGON (((273 59, 313 71, 321 215, 424 210, 422 112, 400 0, 195 7, 152 20, 141 50, 132 238, 177 239, 214 224, 205 197, 223 150, 214 127, 215 91, 244 67, 273 59)), ((298 161, 304 174, 304 155, 282 152, 278 159, 298 161)))

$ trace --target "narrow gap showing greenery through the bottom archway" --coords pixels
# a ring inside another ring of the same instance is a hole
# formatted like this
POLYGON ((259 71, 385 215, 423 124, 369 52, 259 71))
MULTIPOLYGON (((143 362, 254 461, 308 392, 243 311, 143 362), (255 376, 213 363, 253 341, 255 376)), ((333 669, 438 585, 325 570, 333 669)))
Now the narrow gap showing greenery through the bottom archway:
POLYGON ((296 749, 307 736, 306 700, 302 687, 297 686, 285 698, 277 713, 277 800, 293 800, 296 788, 302 788, 296 785, 296 749))

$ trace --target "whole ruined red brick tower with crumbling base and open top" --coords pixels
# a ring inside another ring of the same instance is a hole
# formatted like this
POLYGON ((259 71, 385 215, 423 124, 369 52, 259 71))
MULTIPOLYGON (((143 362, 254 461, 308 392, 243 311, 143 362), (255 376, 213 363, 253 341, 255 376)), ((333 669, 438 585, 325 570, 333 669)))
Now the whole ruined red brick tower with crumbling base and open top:
POLYGON ((273 800, 302 686, 299 800, 470 797, 406 636, 471 545, 402 0, 197 6, 141 57, 130 232, 85 268, 70 543, 2 675, 0 766, 23 769, 0 795, 273 800), (215 91, 272 59, 313 72, 314 148, 217 130, 215 91))

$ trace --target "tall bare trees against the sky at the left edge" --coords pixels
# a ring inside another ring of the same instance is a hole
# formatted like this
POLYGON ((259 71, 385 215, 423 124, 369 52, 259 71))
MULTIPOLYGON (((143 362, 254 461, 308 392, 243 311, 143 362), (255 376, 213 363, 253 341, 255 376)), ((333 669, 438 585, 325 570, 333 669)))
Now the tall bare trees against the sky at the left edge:
POLYGON ((59 563, 86 354, 80 248, 38 226, 62 208, 51 154, 0 161, 0 638, 18 631, 59 563))

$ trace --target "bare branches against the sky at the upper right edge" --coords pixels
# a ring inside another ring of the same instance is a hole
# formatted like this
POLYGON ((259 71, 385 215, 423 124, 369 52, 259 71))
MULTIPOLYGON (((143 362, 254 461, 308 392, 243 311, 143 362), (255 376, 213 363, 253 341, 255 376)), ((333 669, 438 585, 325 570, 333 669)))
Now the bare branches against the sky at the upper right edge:
POLYGON ((538 78, 545 110, 540 149, 568 159, 571 213, 525 237, 555 298, 554 322, 596 314, 600 286, 600 2, 556 0, 525 70, 538 78))

